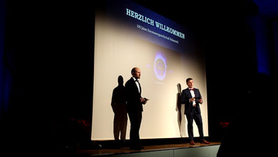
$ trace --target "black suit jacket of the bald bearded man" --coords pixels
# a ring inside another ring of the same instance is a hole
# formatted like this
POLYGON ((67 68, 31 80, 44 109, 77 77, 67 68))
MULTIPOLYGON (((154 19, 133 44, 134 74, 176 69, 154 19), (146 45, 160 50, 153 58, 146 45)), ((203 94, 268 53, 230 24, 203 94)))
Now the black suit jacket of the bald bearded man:
POLYGON ((127 100, 127 112, 143 111, 142 103, 140 101, 141 93, 139 93, 133 78, 130 78, 130 80, 125 83, 125 95, 127 100))

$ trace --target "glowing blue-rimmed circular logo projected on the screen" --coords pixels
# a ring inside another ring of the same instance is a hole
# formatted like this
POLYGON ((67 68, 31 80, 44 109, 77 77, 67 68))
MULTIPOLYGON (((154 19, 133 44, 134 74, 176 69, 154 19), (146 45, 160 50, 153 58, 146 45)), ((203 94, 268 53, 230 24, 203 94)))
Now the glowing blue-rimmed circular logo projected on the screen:
POLYGON ((166 57, 163 57, 161 52, 156 53, 153 67, 155 68, 155 76, 159 80, 163 80, 166 76, 167 63, 166 57))

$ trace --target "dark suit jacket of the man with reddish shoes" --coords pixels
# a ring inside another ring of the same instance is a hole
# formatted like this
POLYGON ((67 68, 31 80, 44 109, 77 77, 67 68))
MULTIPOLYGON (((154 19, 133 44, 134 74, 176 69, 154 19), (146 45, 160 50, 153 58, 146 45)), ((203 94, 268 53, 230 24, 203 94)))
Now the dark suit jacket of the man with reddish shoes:
MULTIPOLYGON (((202 98, 200 91, 197 88, 193 88, 195 93, 195 102, 197 107, 197 113, 201 114, 199 100, 202 98)), ((181 93, 181 104, 185 104, 184 114, 190 114, 193 108, 193 102, 189 102, 192 98, 189 88, 186 88, 181 93)))

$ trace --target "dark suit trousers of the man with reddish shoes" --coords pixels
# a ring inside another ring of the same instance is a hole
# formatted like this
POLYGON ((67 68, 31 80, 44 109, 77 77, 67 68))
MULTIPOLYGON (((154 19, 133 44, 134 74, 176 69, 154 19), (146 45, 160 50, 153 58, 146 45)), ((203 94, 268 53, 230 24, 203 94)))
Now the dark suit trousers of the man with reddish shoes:
POLYGON ((203 128, 202 128, 202 116, 201 114, 197 114, 197 107, 193 107, 192 111, 190 114, 186 114, 187 118, 187 129, 188 129, 188 138, 190 140, 193 140, 194 135, 193 135, 193 120, 195 121, 199 135, 200 135, 200 141, 204 140, 204 133, 203 133, 203 128))

